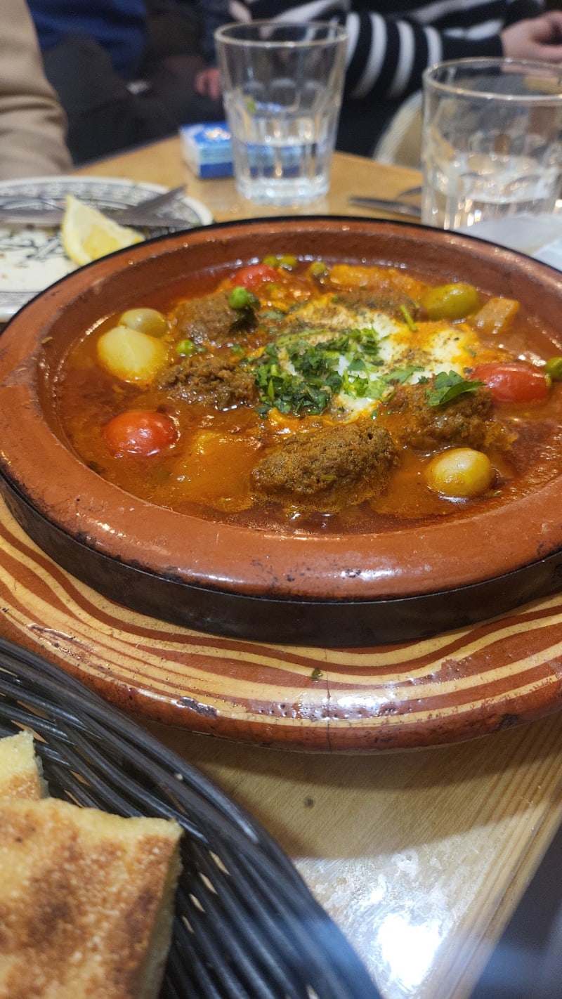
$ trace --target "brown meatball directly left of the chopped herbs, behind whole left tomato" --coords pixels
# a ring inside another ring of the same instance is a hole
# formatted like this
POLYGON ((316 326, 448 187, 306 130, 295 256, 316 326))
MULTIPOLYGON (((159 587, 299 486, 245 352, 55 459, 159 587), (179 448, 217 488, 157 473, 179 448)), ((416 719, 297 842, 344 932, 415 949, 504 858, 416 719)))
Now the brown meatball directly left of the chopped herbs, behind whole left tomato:
POLYGON ((188 403, 207 403, 217 410, 258 402, 254 374, 238 359, 195 354, 174 365, 161 378, 161 389, 188 403))

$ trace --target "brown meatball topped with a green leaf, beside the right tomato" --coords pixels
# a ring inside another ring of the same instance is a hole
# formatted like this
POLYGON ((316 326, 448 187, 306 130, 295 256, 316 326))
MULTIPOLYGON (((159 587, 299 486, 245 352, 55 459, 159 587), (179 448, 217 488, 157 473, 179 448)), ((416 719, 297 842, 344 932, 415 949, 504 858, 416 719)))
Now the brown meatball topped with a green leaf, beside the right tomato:
MULTIPOLYGON (((486 387, 458 396, 444 406, 430 406, 427 385, 405 385, 386 404, 387 426, 402 447, 431 451, 440 447, 481 449, 499 437, 492 420, 493 402, 486 387)), ((499 443, 499 441, 495 442, 499 443)))

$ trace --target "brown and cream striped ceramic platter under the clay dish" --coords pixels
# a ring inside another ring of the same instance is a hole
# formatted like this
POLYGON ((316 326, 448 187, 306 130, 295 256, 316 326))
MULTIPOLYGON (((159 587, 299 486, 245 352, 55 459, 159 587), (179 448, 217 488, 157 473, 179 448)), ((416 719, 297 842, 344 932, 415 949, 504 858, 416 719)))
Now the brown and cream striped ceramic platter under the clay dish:
POLYGON ((331 649, 192 631, 128 610, 45 555, 0 502, 1 632, 147 718, 261 745, 453 742, 562 704, 562 594, 422 641, 331 649))

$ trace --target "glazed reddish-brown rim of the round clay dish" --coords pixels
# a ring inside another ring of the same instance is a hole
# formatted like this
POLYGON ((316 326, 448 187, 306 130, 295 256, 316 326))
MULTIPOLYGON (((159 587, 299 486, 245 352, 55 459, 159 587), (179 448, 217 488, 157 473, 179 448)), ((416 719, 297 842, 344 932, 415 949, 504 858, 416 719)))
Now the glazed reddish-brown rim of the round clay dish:
MULTIPOLYGON (((50 331, 64 321, 73 303, 91 307, 96 325, 116 311, 100 311, 108 282, 123 291, 136 266, 162 267, 198 248, 219 255, 217 268, 250 262, 248 257, 240 260, 232 248, 248 238, 254 243, 259 235, 269 236, 274 222, 276 237, 284 234, 285 242, 288 233, 305 240, 310 233, 325 236, 331 231, 340 240, 346 234, 350 241, 379 237, 386 248, 392 241, 413 241, 444 257, 456 250, 466 259, 476 256, 483 270, 489 265, 509 272, 510 281, 527 281, 544 295, 549 289, 550 295, 562 297, 560 277, 546 265, 470 236, 409 223, 278 217, 218 223, 138 244, 51 286, 11 320, 0 338, 0 472, 7 483, 57 528, 120 562, 196 587, 281 601, 364 602, 446 592, 508 575, 562 548, 558 480, 520 500, 476 509, 460 519, 380 533, 283 533, 140 500, 101 479, 57 437, 45 419, 38 384, 52 349, 50 331), (24 446, 30 441, 32 447, 24 446), (516 529, 521 522, 524 531, 516 529)), ((395 263, 382 261, 374 251, 368 262, 395 263)), ((130 295, 134 298, 134 292, 130 295)))

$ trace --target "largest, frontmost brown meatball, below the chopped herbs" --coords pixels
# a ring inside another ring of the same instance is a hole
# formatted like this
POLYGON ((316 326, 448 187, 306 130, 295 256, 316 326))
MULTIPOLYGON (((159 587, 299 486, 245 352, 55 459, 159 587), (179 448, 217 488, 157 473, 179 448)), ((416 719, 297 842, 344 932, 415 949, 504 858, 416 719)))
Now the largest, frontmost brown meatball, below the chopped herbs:
POLYGON ((387 431, 371 420, 295 435, 256 466, 256 497, 335 511, 379 496, 397 461, 387 431))

